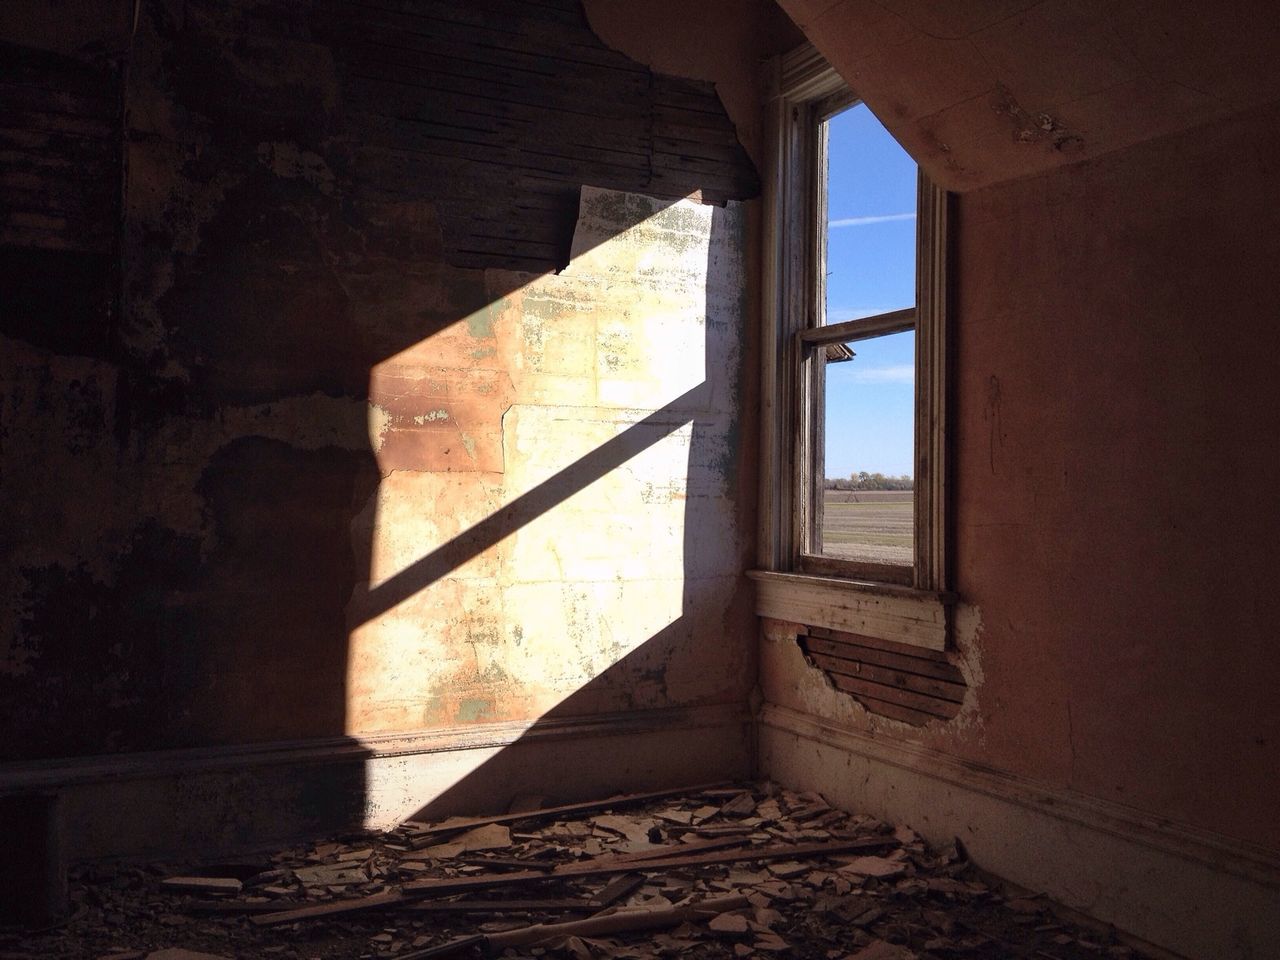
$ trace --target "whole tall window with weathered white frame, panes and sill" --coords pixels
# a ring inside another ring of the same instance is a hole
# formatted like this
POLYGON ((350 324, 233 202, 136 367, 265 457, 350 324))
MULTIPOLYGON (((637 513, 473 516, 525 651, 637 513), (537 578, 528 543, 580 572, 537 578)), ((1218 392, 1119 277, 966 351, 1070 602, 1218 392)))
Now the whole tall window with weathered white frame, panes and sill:
POLYGON ((954 599, 947 197, 913 177, 910 157, 813 47, 776 61, 771 86, 758 609, 941 649, 954 599), (896 189, 895 198, 877 197, 878 210, 846 209, 845 157, 877 152, 887 166, 863 174, 865 183, 855 174, 852 186, 896 189), (828 182, 829 163, 840 182, 828 182), (858 242, 847 237, 854 230, 858 242), (874 234, 896 251, 896 266, 867 246, 874 234), (859 481, 859 472, 887 479, 859 481), (910 493, 851 489, 908 484, 910 493), (850 613, 870 609, 879 617, 872 626, 850 613), (899 613, 913 622, 899 623, 899 613))

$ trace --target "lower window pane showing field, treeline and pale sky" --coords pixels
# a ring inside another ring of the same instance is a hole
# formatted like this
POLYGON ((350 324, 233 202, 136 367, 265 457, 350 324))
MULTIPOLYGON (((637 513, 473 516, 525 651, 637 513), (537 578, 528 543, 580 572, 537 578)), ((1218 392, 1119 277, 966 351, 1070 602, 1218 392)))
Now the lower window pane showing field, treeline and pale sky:
POLYGON ((823 443, 815 451, 820 556, 911 566, 915 532, 915 332, 819 347, 823 443))

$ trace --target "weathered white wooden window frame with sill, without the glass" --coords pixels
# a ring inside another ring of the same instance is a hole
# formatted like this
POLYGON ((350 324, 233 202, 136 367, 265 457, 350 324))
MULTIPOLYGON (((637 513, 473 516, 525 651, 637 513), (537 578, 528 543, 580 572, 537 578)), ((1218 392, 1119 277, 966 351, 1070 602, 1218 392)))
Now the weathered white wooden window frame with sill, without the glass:
POLYGON ((826 136, 822 122, 858 102, 812 46, 776 59, 767 101, 762 276, 762 457, 756 612, 806 626, 946 649, 947 212, 948 197, 920 174, 914 308, 823 325, 826 136), (914 324, 913 324, 914 320, 914 324), (823 344, 915 330, 915 544, 910 567, 840 561, 809 550, 820 522, 823 344))

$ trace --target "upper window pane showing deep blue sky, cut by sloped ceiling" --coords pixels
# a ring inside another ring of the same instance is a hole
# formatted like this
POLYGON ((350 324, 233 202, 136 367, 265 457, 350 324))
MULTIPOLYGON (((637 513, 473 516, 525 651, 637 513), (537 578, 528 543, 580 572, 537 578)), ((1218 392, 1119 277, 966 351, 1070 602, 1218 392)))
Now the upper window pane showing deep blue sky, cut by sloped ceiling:
POLYGON ((915 161, 865 105, 827 127, 827 323, 915 306, 915 161))

